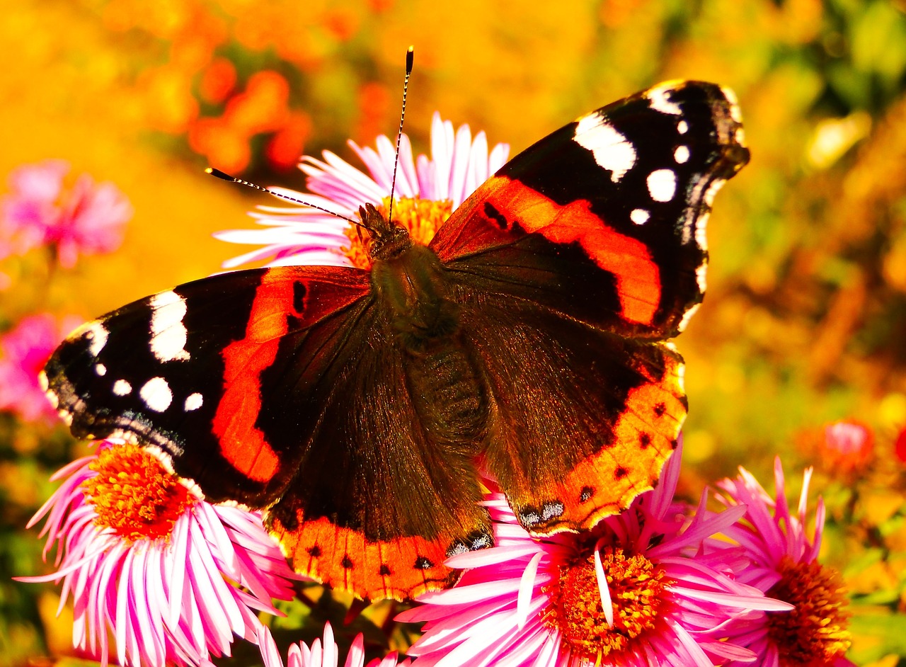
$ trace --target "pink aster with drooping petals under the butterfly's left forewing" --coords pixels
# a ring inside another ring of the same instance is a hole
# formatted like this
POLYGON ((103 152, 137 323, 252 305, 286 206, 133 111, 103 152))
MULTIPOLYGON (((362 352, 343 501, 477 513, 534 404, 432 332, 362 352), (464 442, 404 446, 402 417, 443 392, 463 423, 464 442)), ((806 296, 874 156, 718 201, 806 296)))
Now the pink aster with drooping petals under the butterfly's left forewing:
POLYGON ((72 643, 105 663, 207 663, 234 635, 256 642, 257 612, 294 596, 298 577, 257 513, 209 505, 147 449, 104 440, 60 469, 63 484, 29 523, 46 517, 44 557, 72 594, 72 643))

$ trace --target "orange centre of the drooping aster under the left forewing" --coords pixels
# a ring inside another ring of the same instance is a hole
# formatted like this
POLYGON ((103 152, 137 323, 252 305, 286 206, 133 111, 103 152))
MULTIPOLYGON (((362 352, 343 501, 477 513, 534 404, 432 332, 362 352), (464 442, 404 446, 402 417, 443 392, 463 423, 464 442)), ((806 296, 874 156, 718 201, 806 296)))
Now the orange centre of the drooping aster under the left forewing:
POLYGON ((102 449, 89 465, 97 473, 82 482, 94 506, 94 523, 129 540, 168 538, 173 524, 198 502, 145 449, 124 444, 102 449))

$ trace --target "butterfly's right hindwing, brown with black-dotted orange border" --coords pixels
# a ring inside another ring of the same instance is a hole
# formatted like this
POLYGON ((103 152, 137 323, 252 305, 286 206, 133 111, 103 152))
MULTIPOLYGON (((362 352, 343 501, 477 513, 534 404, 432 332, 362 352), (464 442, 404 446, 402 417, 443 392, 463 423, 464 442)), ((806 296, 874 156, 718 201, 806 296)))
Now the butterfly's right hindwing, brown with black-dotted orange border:
POLYGON ((493 397, 487 470, 526 529, 591 528, 657 483, 686 417, 678 353, 502 299, 462 313, 493 397))

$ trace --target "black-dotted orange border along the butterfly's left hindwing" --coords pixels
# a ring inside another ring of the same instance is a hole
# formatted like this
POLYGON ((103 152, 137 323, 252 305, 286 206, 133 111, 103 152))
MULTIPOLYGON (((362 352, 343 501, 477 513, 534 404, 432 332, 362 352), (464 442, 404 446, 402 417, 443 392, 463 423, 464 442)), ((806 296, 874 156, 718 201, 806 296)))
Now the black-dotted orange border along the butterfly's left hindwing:
POLYGON ((296 572, 357 597, 407 600, 447 588, 455 571, 444 565, 447 547, 441 540, 419 536, 371 542, 351 528, 320 517, 294 530, 270 517, 270 533, 296 572))

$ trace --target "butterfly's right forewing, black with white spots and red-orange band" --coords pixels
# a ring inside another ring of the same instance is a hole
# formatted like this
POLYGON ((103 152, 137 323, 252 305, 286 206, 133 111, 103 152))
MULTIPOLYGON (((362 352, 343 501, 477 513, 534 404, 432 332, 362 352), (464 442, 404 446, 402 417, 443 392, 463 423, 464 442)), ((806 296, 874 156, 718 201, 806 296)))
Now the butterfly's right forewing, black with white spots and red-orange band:
POLYGON ((705 288, 705 224, 748 150, 732 93, 673 82, 603 107, 510 160, 431 248, 474 289, 666 339, 705 288))

